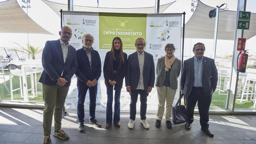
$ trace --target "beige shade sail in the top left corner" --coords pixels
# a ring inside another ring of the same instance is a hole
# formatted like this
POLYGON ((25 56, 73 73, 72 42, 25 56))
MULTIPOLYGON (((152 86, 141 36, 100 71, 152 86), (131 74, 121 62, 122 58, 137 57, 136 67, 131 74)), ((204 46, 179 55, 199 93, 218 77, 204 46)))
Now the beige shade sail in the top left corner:
POLYGON ((16 0, 0 2, 0 33, 50 34, 32 20, 16 0))

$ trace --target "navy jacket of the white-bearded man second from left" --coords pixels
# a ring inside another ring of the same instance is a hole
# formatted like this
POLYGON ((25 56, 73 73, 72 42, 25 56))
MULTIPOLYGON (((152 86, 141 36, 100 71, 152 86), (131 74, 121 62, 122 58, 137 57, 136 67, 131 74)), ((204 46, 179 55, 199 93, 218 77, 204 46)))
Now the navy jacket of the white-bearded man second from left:
POLYGON ((91 48, 91 61, 90 66, 89 58, 85 49, 82 47, 77 50, 77 84, 86 84, 88 80, 99 80, 101 75, 101 60, 99 53, 91 48))

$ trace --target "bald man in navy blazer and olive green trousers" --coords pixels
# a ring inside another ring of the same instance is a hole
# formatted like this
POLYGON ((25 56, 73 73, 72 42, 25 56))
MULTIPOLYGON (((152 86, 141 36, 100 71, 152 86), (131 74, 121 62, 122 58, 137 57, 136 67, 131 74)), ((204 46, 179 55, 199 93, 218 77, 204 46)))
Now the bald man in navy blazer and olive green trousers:
POLYGON ((54 112, 54 134, 61 139, 68 139, 61 129, 62 108, 65 103, 71 77, 77 69, 76 49, 69 45, 72 30, 63 26, 60 39, 47 41, 42 53, 44 70, 39 79, 42 83, 45 109, 43 114, 44 144, 51 142, 52 114, 54 112))

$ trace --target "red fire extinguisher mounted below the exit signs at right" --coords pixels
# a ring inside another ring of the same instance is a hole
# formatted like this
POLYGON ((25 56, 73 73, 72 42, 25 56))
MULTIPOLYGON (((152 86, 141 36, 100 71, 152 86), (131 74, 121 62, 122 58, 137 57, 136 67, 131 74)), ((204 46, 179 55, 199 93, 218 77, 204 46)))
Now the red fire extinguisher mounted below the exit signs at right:
POLYGON ((240 52, 237 56, 237 71, 239 73, 245 73, 246 71, 246 65, 247 65, 247 60, 248 60, 248 52, 247 50, 243 50, 240 52))

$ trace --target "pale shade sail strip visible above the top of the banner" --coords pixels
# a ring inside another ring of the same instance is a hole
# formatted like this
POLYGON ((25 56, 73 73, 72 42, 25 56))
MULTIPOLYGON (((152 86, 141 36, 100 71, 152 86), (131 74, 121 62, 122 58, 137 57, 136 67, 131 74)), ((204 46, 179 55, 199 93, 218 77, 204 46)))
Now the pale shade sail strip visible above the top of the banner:
MULTIPOLYGON (((47 0, 41 0, 51 7, 59 16, 60 9, 63 11, 68 11, 67 4, 60 4, 55 2, 50 2, 47 0)), ((174 1, 176 2, 176 1, 174 1)), ((172 5, 174 2, 159 6, 159 13, 163 13, 166 8, 172 5)), ((86 6, 73 6, 74 11, 80 12, 109 12, 109 13, 155 13, 155 7, 144 7, 144 8, 102 8, 102 7, 86 7, 86 6)))

